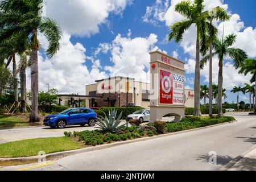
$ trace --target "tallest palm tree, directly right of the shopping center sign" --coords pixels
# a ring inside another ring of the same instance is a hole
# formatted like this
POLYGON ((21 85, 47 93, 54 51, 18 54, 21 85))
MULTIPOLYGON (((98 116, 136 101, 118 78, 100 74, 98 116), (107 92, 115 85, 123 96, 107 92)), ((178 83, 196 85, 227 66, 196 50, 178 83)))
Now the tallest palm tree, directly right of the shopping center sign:
MULTIPOLYGON (((175 11, 185 16, 187 19, 175 22, 170 27, 171 33, 168 35, 169 41, 175 39, 176 42, 180 42, 183 39, 183 34, 188 30, 192 24, 195 24, 196 33, 196 67, 195 67, 195 111, 194 115, 201 115, 200 111, 200 45, 201 49, 207 49, 207 35, 209 35, 208 41, 211 42, 217 35, 217 28, 213 26, 210 19, 212 15, 209 11, 204 11, 203 0, 181 1, 175 6, 175 11)), ((216 16, 214 19, 222 19, 226 15, 226 11, 222 8, 216 10, 216 16)), ((227 16, 227 15, 226 15, 227 16)))

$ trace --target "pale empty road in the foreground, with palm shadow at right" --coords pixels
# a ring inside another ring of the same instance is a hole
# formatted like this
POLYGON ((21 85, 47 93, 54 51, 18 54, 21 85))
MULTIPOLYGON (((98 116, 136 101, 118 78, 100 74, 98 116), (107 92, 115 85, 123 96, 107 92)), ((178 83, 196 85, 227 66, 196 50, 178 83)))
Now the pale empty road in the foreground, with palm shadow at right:
POLYGON ((256 116, 229 115, 238 122, 67 156, 32 170, 218 170, 256 143, 256 116), (210 151, 216 165, 208 162, 210 151))

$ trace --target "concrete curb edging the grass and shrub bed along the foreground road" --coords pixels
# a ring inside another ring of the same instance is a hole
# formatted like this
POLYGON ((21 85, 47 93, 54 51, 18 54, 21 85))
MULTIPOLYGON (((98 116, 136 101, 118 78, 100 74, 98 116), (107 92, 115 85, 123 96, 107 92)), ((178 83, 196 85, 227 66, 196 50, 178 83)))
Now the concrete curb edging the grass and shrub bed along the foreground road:
MULTIPOLYGON (((151 140, 151 139, 156 139, 156 138, 161 138, 161 137, 168 137, 168 136, 171 136, 171 135, 176 135, 176 134, 181 134, 181 133, 188 133, 188 132, 191 132, 191 131, 207 129, 209 127, 225 125, 225 124, 233 123, 233 122, 236 122, 236 121, 230 121, 230 122, 220 123, 220 124, 217 124, 217 125, 199 127, 199 128, 191 129, 191 130, 177 131, 177 132, 174 132, 174 133, 156 135, 156 136, 153 136, 153 137, 144 137, 144 138, 138 138, 138 139, 133 139, 133 140, 126 140, 126 141, 122 141, 122 142, 102 144, 100 146, 95 146, 95 147, 86 147, 86 148, 80 148, 80 149, 77 149, 77 150, 56 152, 56 153, 52 153, 52 154, 47 154, 46 155, 46 160, 57 160, 57 159, 64 158, 65 156, 69 156, 69 155, 80 154, 80 153, 89 152, 89 151, 103 150, 103 149, 106 149, 106 148, 121 146, 123 144, 134 143, 134 142, 142 142, 142 141, 146 141, 146 140, 151 140)), ((39 156, 30 156, 30 157, 23 157, 23 158, 0 158, 0 166, 17 166, 17 165, 22 165, 22 164, 36 163, 36 162, 38 162, 39 158, 40 158, 39 156)))

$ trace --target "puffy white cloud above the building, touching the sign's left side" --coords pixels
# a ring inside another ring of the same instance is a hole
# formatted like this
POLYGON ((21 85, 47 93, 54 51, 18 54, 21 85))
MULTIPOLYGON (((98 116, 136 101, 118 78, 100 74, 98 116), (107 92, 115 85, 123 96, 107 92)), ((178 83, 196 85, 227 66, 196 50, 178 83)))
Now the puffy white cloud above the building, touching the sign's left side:
POLYGON ((155 34, 150 34, 146 38, 122 37, 120 34, 113 40, 111 45, 111 60, 113 66, 106 66, 105 70, 110 71, 110 75, 146 74, 149 69, 150 55, 148 52, 155 51, 158 47, 155 34))

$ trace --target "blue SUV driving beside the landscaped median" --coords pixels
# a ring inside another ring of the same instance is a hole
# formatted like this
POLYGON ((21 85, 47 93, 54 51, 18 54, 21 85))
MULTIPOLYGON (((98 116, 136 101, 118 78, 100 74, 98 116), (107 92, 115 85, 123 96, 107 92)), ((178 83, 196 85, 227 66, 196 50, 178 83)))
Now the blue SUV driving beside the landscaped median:
POLYGON ((97 121, 97 113, 88 108, 69 108, 59 114, 47 115, 44 125, 52 128, 63 129, 67 125, 94 126, 97 121))

